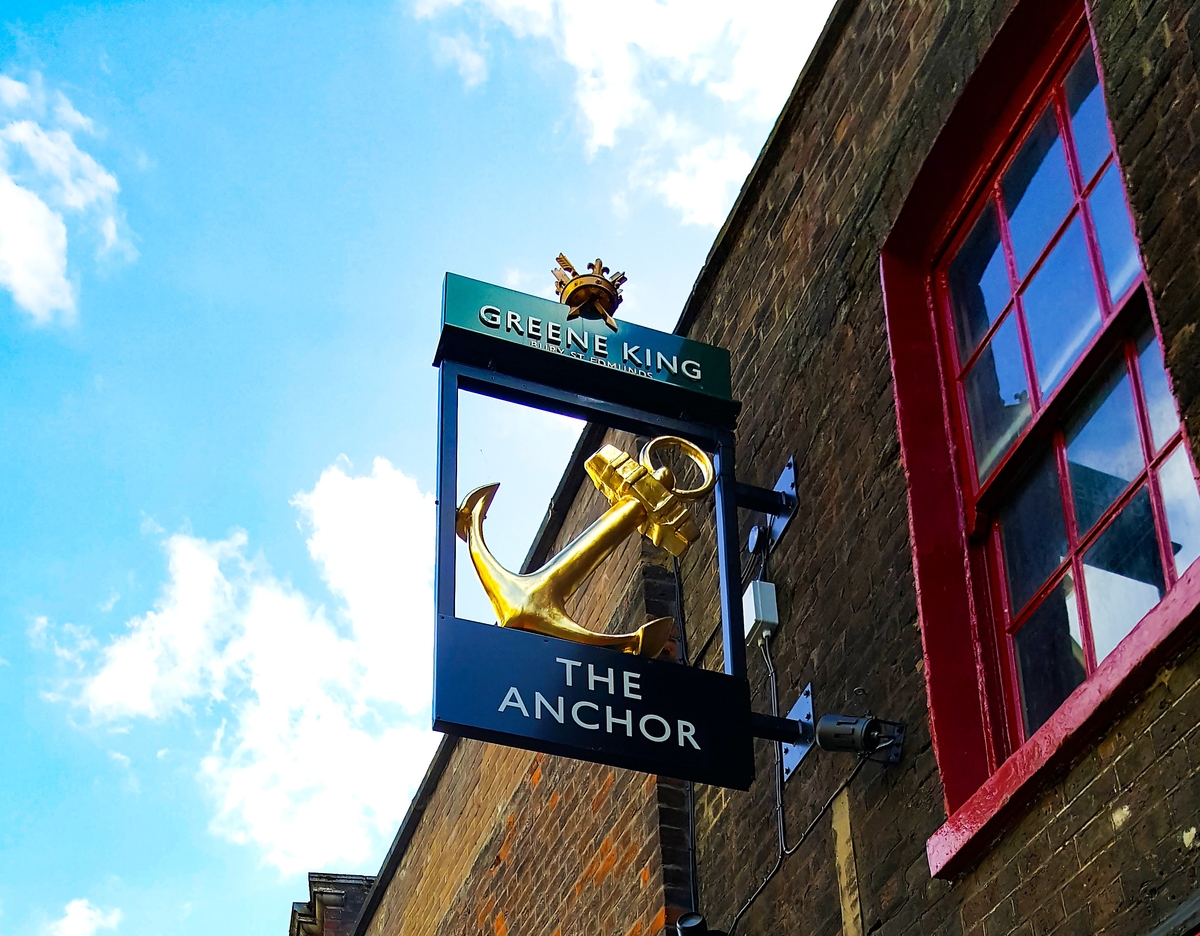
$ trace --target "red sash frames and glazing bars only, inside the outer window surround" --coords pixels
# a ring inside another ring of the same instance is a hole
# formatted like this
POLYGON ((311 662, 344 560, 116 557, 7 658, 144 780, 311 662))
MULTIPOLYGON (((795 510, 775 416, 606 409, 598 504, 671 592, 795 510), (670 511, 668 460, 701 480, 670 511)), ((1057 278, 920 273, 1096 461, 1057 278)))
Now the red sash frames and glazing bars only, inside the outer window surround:
MULTIPOLYGON (((1007 732, 1003 733, 1003 737, 995 739, 998 743, 994 743, 990 751, 989 760, 992 769, 998 766, 1000 761, 1003 761, 1028 739, 1025 719, 1021 716, 1020 680, 1014 648, 1016 632, 1039 610, 1043 598, 1058 587, 1064 575, 1073 577, 1076 593, 1082 590, 1082 583, 1085 582, 1082 569, 1084 554, 1106 532, 1109 521, 1120 514, 1144 487, 1150 492, 1152 516, 1158 539, 1159 562, 1164 569, 1168 592, 1175 586, 1178 577, 1175 570, 1174 557, 1169 551, 1170 535, 1166 528, 1166 511, 1163 505, 1163 496, 1158 484, 1158 468, 1184 443, 1184 436, 1181 425, 1162 444, 1160 450, 1156 454, 1150 426, 1150 414, 1146 410, 1145 392, 1141 384, 1140 360, 1136 348, 1139 336, 1132 331, 1132 328, 1139 324, 1153 322, 1153 316, 1150 314, 1148 310, 1148 284, 1145 272, 1139 270, 1124 292, 1116 299, 1111 299, 1109 295, 1104 259, 1100 254, 1099 239, 1091 217, 1088 197, 1105 178, 1110 167, 1115 166, 1116 156, 1110 150, 1098 168, 1093 170, 1090 179, 1082 176, 1063 86, 1068 72, 1085 52, 1094 55, 1091 35, 1086 29, 1081 29, 1074 41, 1060 52, 1057 64, 1043 79, 1039 95, 1026 106, 1022 121, 1014 128, 1004 148, 1004 157, 991 167, 990 181, 980 186, 980 191, 973 203, 967 204, 960 212, 955 223, 956 233, 948 239, 944 248, 935 260, 936 272, 934 275, 932 292, 935 307, 938 312, 940 343, 946 356, 947 392, 953 401, 953 409, 956 410, 952 421, 954 424, 955 442, 959 452, 960 478, 965 481, 961 484, 961 487, 966 524, 971 538, 980 541, 991 578, 991 606, 990 608, 979 608, 979 613, 980 618, 990 618, 988 626, 997 635, 994 647, 998 656, 996 665, 1001 672, 998 682, 1003 696, 998 702, 1000 710, 1003 712, 1007 724, 1007 732), (1050 240, 1042 248, 1037 259, 1030 264, 1030 269, 1021 276, 1018 272, 1014 260, 1009 222, 1002 210, 1002 184, 1006 174, 1019 158, 1021 146, 1042 120, 1048 107, 1052 107, 1055 112, 1074 200, 1072 208, 1067 211, 1050 240), (994 205, 996 211, 1001 248, 1006 259, 1012 298, 1006 306, 1006 312, 996 316, 995 322, 979 337, 974 350, 964 359, 960 354, 959 342, 955 340, 954 313, 948 286, 949 265, 971 235, 974 223, 979 220, 982 212, 985 210, 985 205, 989 203, 994 205), (1100 325, 1087 346, 1079 352, 1074 362, 1060 379, 1057 386, 1043 398, 1036 372, 1032 342, 1022 307, 1022 290, 1037 277, 1055 247, 1066 236, 1076 218, 1082 223, 1087 258, 1093 281, 1097 284, 1097 295, 1100 305, 1100 325), (974 446, 970 438, 970 415, 962 378, 990 347, 989 342, 991 337, 1009 319, 1015 320, 1018 326, 1032 412, 1025 427, 1009 445, 1008 451, 980 479, 974 446), (1081 535, 1075 512, 1069 506, 1072 503, 1070 472, 1067 467, 1066 438, 1062 425, 1063 412, 1067 406, 1078 402, 1072 398, 1078 396, 1078 394, 1064 392, 1064 390, 1074 390, 1093 379, 1104 368, 1116 365, 1117 359, 1124 360, 1130 376, 1135 415, 1146 467, 1129 481, 1124 493, 1117 497, 1100 517, 1092 523, 1091 528, 1084 530, 1081 535), (1013 608, 1010 607, 1009 596, 1006 594, 1007 589, 1004 587, 1004 553, 1000 524, 991 520, 991 517, 995 516, 996 508, 1003 503, 1004 498, 1012 494, 1014 474, 1027 468, 1031 461, 1045 454, 1048 448, 1054 455, 1058 482, 1063 491, 1063 500, 1067 504, 1064 520, 1069 545, 1068 554, 1060 566, 1050 574, 1046 581, 1028 596, 1024 607, 1013 608)), ((1115 172, 1120 172, 1120 168, 1117 167, 1115 172)), ((1159 342, 1159 347, 1162 347, 1157 323, 1154 323, 1153 329, 1154 337, 1159 342)), ((1195 475, 1194 466, 1193 475, 1195 475)), ((1084 643, 1085 667, 1087 677, 1091 678, 1096 673, 1098 661, 1093 646, 1088 601, 1079 601, 1078 607, 1081 622, 1080 630, 1084 643)))

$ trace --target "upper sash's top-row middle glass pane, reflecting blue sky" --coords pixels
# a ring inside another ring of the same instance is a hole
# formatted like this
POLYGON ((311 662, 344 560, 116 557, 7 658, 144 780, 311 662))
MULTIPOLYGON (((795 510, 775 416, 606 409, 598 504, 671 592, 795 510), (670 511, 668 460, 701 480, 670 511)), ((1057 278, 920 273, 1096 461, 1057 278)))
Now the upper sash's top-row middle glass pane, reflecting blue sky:
POLYGON ((1004 175, 1003 193, 1016 269, 1024 276, 1075 203, 1052 107, 1004 175))

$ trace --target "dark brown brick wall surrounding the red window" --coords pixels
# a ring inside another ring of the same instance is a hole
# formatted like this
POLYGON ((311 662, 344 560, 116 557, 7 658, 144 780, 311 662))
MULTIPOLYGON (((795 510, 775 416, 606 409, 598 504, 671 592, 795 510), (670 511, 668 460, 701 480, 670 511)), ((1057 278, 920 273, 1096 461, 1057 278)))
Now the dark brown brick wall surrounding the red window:
MULTIPOLYGON (((1032 1, 1032 0, 1030 0, 1032 1)), ((1118 152, 1168 361, 1200 439, 1196 4, 1097 0, 1118 152)), ((978 863, 931 880, 924 842, 946 818, 929 740, 878 258, 913 180, 1012 2, 842 2, 841 38, 810 74, 714 250, 689 334, 728 347, 745 401, 743 480, 794 455, 802 510, 774 560, 781 707, 814 684, 818 713, 910 726, 904 762, 848 791, 866 932, 1142 934, 1198 888, 1200 655, 1183 650, 1130 697, 978 863), (780 392, 788 388, 788 392, 780 392)), ((716 620, 713 551, 686 562, 689 622, 716 620)), ((691 636, 703 641, 706 630, 691 636)), ((714 642, 704 660, 719 665, 714 642)), ((751 655, 756 704, 764 666, 751 655)), ((749 793, 702 790, 701 904, 728 925, 776 859, 772 752, 749 793)), ((796 835, 851 769, 814 755, 785 792, 796 835)), ((828 818, 784 862, 739 931, 842 928, 828 818)))

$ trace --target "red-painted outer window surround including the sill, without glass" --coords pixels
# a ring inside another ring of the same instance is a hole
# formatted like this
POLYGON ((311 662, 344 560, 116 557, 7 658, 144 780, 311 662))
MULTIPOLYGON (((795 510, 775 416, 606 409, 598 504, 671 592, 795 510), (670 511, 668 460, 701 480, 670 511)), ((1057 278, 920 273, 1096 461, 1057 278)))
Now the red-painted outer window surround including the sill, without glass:
MULTIPOLYGON (((1174 562, 1164 556, 1163 568, 1169 577, 1166 598, 1099 665, 1088 641, 1088 678, 1032 737, 1024 737, 1008 638, 1015 626, 1007 626, 1019 625, 1021 619, 1008 614, 1004 589, 996 587, 1002 581, 998 565, 1002 553, 989 511, 997 506, 998 492, 1012 486, 1022 463, 1027 464, 1031 452, 1039 446, 1044 451, 1052 445, 1060 474, 1066 470, 1061 463, 1061 427, 1068 407, 1114 354, 1124 353, 1132 379, 1139 380, 1138 361, 1128 361, 1128 341, 1136 338, 1129 330, 1141 316, 1154 322, 1153 300, 1141 276, 1118 301, 1105 305, 1097 334, 1048 400, 1037 398, 1037 382, 1028 379, 1033 416, 1020 439, 980 484, 965 436, 967 414, 958 392, 962 362, 956 358, 946 290, 938 274, 968 234, 983 199, 992 191, 990 186, 1003 176, 1020 142, 1040 118, 1048 97, 1061 97, 1057 83, 1090 42, 1092 32, 1080 0, 1019 2, 925 157, 881 257, 900 448, 908 481, 930 730, 948 816, 928 842, 930 869, 936 876, 956 874, 982 853, 1050 772, 1087 744, 1116 708, 1150 678, 1165 654, 1192 630, 1181 624, 1189 622, 1200 605, 1196 571, 1200 563, 1176 582, 1174 562), (940 419, 931 419, 932 414, 940 414, 940 419), (971 704, 972 701, 977 704, 971 704)), ((1097 68, 1102 70, 1100 56, 1096 59, 1097 68)), ((1103 86, 1103 71, 1100 77, 1103 86)), ((1063 103, 1057 101, 1060 108, 1063 103)), ((1063 136, 1067 148, 1072 146, 1069 133, 1068 128, 1063 136)), ((1110 161, 1115 158, 1109 156, 1110 161)), ((1075 206, 1051 245, 1044 248, 1043 258, 1063 236, 1072 218, 1087 211, 1086 204, 1080 204, 1087 192, 1082 191, 1073 152, 1068 164, 1075 206)), ((1104 170, 1098 170, 1091 181, 1103 178, 1104 170)), ((1087 245, 1093 270, 1103 270, 1090 226, 1087 245)), ((1027 276, 1036 270, 1034 264, 1027 276)), ((1012 270, 1009 276, 1010 280, 1014 276, 1012 270)), ((1000 323, 997 317, 989 334, 1000 323)), ((1157 331, 1157 323, 1154 328, 1157 331)), ((980 340, 978 348, 985 341, 980 340)), ((1022 342, 1028 361, 1025 334, 1022 342)), ((1144 397, 1139 392, 1135 398, 1139 424, 1144 437, 1148 437, 1147 416, 1140 403, 1144 397)), ((1078 530, 1069 532, 1068 568, 1078 565, 1078 557, 1104 530, 1108 517, 1144 484, 1156 484, 1154 469, 1180 445, 1187 445, 1182 432, 1152 462, 1147 457, 1151 464, 1142 469, 1140 480, 1129 484, 1082 544, 1078 530)), ((1152 499, 1162 551, 1165 521, 1157 490, 1152 499)), ((1067 517, 1068 523, 1073 521, 1067 517)), ((1038 594, 1054 587, 1061 571, 1060 568, 1051 575, 1038 594)), ((1037 604, 1034 596, 1024 613, 1028 614, 1037 604)))

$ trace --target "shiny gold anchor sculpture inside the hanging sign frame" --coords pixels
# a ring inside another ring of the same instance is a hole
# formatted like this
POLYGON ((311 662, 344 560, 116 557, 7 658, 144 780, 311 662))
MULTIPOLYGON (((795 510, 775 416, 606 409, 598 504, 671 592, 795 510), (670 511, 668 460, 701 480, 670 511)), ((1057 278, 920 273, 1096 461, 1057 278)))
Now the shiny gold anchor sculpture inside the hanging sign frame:
POLYGON ((636 461, 614 445, 605 445, 584 467, 612 506, 538 571, 510 572, 484 541, 484 520, 498 484, 476 487, 463 498, 455 516, 455 532, 467 542, 475 572, 502 628, 658 656, 671 638, 671 618, 655 618, 632 634, 596 634, 571 620, 565 602, 634 530, 672 556, 683 556, 700 535, 688 504, 713 490, 716 480, 713 462, 686 439, 659 436, 642 448, 636 461), (654 455, 666 446, 680 449, 696 463, 702 474, 698 487, 680 491, 670 468, 654 467, 654 455))

